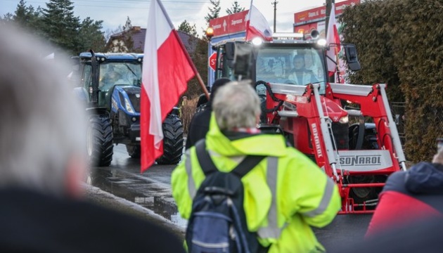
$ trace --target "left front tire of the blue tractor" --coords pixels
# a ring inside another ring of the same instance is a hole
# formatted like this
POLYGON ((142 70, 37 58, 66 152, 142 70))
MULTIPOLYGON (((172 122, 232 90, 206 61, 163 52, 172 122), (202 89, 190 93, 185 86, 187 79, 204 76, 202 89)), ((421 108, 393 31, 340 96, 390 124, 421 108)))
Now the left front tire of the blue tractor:
POLYGON ((109 166, 113 160, 113 128, 108 115, 91 115, 87 131, 87 155, 91 166, 109 166))

